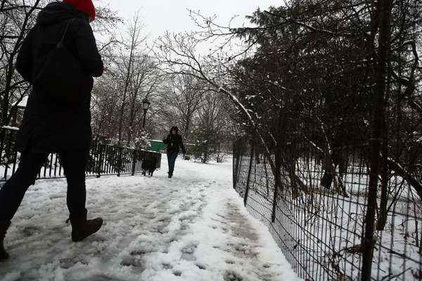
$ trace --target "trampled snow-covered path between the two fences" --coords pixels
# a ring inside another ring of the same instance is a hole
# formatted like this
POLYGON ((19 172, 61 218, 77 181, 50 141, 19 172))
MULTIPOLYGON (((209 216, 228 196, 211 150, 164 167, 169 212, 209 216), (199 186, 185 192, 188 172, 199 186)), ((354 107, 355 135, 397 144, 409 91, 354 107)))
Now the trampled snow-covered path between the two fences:
POLYGON ((105 226, 70 242, 65 181, 39 181, 13 220, 0 280, 297 280, 232 189, 231 163, 167 161, 153 178, 87 181, 89 216, 105 226))

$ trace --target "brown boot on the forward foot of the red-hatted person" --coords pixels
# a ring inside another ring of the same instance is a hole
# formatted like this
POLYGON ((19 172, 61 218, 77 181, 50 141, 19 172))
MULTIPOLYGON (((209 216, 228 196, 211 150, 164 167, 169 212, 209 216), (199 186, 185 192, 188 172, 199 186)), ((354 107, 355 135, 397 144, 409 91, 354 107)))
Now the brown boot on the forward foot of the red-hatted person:
POLYGON ((80 242, 100 230, 103 226, 103 218, 87 220, 87 214, 84 214, 77 217, 71 216, 70 223, 72 224, 72 241, 80 242))

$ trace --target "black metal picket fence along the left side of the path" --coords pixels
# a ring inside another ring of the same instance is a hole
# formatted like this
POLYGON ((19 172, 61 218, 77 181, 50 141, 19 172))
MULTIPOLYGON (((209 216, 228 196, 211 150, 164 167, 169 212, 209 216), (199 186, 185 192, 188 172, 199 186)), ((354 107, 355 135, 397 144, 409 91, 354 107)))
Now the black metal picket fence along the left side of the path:
MULTIPOLYGON (((0 182, 7 181, 18 169, 19 156, 15 150, 15 129, 4 130, 4 138, 0 143, 1 165, 0 182)), ((161 154, 146 150, 134 150, 132 148, 122 148, 103 143, 93 143, 89 151, 87 164, 87 176, 121 176, 141 173, 143 159, 155 159, 157 169, 161 165, 161 154)), ((56 153, 51 153, 44 166, 39 171, 38 179, 64 178, 63 166, 60 157, 56 153)))

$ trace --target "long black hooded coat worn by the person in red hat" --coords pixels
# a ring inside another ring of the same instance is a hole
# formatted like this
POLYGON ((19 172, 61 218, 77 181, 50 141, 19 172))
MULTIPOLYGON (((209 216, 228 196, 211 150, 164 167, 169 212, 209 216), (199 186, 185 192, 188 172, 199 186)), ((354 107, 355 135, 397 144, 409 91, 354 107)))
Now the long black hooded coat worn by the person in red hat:
MULTIPOLYGON (((101 76, 103 62, 87 16, 62 2, 47 5, 23 41, 16 68, 25 80, 32 82, 44 62, 44 56, 60 41, 71 19, 74 20, 66 34, 65 46, 79 60, 86 74, 87 79, 79 93, 83 98, 78 103, 57 103, 48 98, 39 86, 32 85, 18 133, 17 145, 21 152, 28 148, 34 152, 84 150, 91 143, 92 77, 101 76)), ((65 67, 63 65, 64 71, 65 67)))

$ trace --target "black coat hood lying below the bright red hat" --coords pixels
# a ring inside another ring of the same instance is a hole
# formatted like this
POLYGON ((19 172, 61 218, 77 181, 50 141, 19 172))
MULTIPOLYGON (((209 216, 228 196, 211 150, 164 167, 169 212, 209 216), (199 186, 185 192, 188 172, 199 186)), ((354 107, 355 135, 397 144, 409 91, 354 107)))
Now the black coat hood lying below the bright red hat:
POLYGON ((77 11, 69 4, 53 2, 48 4, 41 12, 39 12, 37 24, 44 26, 56 25, 57 23, 70 20, 72 18, 86 19, 87 15, 77 11))

